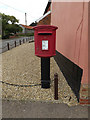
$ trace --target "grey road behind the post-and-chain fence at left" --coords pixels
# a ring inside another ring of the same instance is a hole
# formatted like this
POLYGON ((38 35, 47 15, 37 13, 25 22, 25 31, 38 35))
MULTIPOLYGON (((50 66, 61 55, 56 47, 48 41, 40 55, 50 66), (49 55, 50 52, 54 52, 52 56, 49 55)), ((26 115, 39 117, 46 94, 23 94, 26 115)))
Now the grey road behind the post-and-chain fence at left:
POLYGON ((14 38, 14 39, 5 39, 5 40, 0 40, 0 53, 3 53, 8 50, 7 43, 9 43, 10 49, 15 47, 15 41, 16 45, 20 45, 20 40, 21 43, 26 42, 27 40, 31 40, 33 37, 20 37, 20 38, 14 38))

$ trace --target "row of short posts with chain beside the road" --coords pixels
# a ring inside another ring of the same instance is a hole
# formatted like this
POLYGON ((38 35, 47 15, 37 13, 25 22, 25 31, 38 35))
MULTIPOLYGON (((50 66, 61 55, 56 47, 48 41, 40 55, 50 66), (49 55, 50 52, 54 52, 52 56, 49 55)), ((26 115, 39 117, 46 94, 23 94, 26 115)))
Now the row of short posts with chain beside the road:
POLYGON ((30 36, 30 37, 23 38, 20 40, 13 40, 13 41, 5 42, 5 43, 2 42, 2 48, 0 48, 0 53, 6 52, 7 50, 10 50, 28 41, 33 42, 34 36, 30 36))

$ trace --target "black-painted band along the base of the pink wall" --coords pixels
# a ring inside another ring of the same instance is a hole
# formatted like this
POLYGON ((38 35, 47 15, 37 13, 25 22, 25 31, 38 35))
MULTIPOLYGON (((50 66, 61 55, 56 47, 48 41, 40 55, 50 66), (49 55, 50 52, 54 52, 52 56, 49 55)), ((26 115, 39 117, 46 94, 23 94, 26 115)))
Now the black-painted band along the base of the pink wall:
POLYGON ((63 73, 64 77, 66 78, 67 83, 71 87, 72 91, 77 97, 79 102, 80 98, 80 86, 81 86, 81 79, 83 74, 83 69, 79 66, 71 62, 61 53, 56 51, 56 56, 54 57, 55 61, 57 62, 61 72, 63 73))

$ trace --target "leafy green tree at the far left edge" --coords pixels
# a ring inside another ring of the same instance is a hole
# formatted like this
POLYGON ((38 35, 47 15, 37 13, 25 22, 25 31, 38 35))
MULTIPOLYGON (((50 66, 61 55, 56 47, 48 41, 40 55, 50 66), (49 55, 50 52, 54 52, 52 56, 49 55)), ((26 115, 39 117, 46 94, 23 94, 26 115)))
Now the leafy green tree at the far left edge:
POLYGON ((22 28, 17 24, 19 22, 14 16, 2 15, 2 38, 9 38, 11 33, 21 32, 22 28))

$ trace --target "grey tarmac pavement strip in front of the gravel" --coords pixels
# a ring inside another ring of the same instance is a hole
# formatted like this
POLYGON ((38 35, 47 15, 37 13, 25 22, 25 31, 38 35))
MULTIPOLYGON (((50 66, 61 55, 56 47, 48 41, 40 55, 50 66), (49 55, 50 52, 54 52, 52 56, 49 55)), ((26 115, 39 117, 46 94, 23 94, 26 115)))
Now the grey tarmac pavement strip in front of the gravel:
POLYGON ((88 118, 88 107, 4 100, 2 116, 3 118, 88 118))

